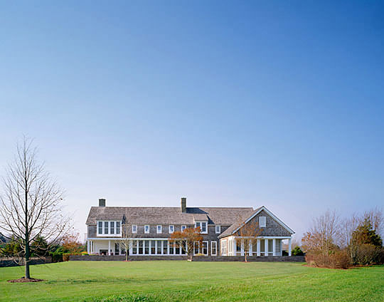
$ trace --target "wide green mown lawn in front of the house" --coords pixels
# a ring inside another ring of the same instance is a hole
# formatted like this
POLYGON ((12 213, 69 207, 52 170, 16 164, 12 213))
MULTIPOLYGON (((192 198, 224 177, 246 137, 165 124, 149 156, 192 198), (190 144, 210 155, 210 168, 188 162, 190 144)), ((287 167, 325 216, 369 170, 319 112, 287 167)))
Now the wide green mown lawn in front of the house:
POLYGON ((23 267, 0 268, 0 301, 384 301, 384 266, 70 261, 31 274, 46 281, 7 283, 23 267))

